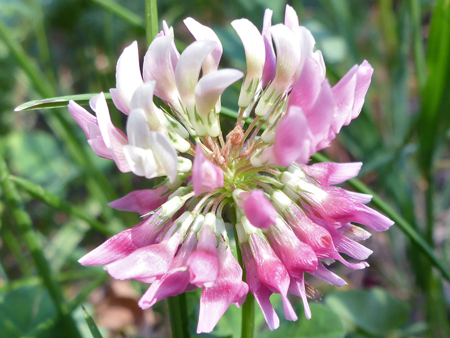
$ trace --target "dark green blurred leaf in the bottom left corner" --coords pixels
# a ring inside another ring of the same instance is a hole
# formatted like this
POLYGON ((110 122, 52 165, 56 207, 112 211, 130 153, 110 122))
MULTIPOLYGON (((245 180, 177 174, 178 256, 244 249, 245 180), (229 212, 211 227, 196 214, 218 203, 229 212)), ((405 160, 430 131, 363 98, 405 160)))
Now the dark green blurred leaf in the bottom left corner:
POLYGON ((4 337, 26 336, 41 322, 53 318, 56 309, 41 286, 23 286, 0 299, 0 327, 4 337))

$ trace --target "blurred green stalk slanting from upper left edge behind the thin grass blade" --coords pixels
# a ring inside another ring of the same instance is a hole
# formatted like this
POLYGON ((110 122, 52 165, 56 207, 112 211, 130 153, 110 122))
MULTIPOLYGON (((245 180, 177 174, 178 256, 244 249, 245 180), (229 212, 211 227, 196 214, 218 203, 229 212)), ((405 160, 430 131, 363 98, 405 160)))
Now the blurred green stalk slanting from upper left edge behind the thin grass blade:
MULTIPOLYGON (((12 36, 11 32, 0 20, 0 39, 14 56, 17 64, 26 73, 30 82, 42 97, 54 97, 55 91, 51 84, 46 80, 39 69, 35 67, 23 48, 12 38, 12 36)), ((66 117, 58 110, 56 114, 46 115, 45 118, 53 132, 60 139, 65 141, 65 145, 68 148, 68 153, 71 158, 82 169, 87 181, 86 187, 89 192, 101 202, 101 205, 106 205, 108 200, 114 199, 116 195, 112 190, 111 185, 105 176, 92 163, 85 149, 78 143, 66 117)), ((103 213, 108 218, 112 217, 110 208, 104 207, 103 213)))

